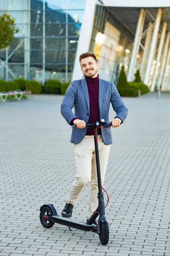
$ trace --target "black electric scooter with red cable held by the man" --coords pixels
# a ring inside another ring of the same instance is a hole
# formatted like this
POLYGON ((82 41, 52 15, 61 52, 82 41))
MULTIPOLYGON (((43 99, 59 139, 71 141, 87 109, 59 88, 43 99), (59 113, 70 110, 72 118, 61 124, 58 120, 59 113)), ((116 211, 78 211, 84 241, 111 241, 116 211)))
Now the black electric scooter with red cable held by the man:
MULTIPOLYGON (((98 140, 97 140, 97 128, 104 127, 109 128, 112 126, 112 122, 105 122, 104 119, 101 122, 96 121, 94 123, 85 123, 86 127, 93 126, 94 127, 94 143, 95 143, 95 152, 96 152, 96 167, 97 167, 97 179, 98 179, 98 207, 96 211, 91 215, 91 218, 87 222, 79 221, 73 218, 65 218, 59 216, 53 204, 45 203, 40 207, 40 222, 43 227, 50 228, 54 225, 54 223, 62 224, 65 226, 84 230, 84 231, 91 231, 95 224, 93 224, 94 220, 98 217, 98 224, 97 224, 97 233, 99 234, 99 239, 101 244, 106 245, 109 241, 109 224, 107 219, 105 218, 105 203, 104 203, 104 195, 102 192, 102 181, 101 181, 101 173, 100 173, 100 163, 99 163, 99 147, 98 147, 98 140)), ((74 125, 76 128, 77 126, 74 125)), ((105 191, 106 192, 106 191, 105 191)), ((107 193, 107 192, 106 192, 107 193)), ((107 194, 108 195, 108 194, 107 194)), ((71 229, 70 229, 71 230, 71 229)))

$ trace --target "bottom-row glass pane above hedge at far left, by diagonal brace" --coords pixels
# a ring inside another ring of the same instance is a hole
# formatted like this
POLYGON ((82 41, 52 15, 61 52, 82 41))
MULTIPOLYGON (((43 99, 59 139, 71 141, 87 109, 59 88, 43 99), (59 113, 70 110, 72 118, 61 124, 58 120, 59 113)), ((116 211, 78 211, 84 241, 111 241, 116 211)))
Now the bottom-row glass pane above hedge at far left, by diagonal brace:
POLYGON ((8 65, 8 80, 25 78, 24 65, 8 65))

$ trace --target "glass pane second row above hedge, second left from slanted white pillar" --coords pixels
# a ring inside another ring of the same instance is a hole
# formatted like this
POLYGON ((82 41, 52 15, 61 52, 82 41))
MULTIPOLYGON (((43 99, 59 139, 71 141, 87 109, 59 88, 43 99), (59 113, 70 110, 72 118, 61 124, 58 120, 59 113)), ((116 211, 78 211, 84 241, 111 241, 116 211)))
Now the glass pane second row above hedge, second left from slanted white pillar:
POLYGON ((45 63, 65 63, 65 50, 45 51, 45 63))

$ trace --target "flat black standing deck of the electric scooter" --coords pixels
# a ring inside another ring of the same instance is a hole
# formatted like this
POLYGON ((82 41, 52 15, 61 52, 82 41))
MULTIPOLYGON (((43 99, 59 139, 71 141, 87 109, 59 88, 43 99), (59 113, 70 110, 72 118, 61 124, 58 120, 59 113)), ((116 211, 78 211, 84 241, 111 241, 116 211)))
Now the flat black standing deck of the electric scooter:
POLYGON ((79 221, 74 218, 66 218, 66 217, 55 216, 55 215, 48 216, 48 218, 49 218, 49 221, 52 221, 61 225, 65 225, 68 227, 73 227, 79 230, 84 230, 84 231, 91 231, 93 227, 96 227, 95 224, 89 225, 83 221, 79 221))

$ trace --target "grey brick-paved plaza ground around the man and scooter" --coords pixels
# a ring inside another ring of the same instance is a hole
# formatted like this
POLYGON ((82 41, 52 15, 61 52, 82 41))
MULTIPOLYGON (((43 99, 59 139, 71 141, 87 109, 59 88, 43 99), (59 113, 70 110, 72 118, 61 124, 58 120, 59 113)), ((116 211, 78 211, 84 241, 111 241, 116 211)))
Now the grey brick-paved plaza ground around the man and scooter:
MULTIPOLYGON (((40 224, 40 206, 54 203, 60 214, 75 177, 62 98, 0 102, 0 256, 170 256, 170 93, 123 99, 128 117, 112 129, 105 176, 106 246, 96 233, 40 224)), ((85 220, 88 192, 73 217, 85 220)))

